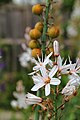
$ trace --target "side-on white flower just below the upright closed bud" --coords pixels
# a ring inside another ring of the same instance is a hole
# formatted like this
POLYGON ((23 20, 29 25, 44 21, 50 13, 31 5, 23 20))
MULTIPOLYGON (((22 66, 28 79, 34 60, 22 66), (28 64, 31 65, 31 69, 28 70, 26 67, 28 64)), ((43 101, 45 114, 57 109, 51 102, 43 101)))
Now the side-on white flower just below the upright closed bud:
POLYGON ((70 64, 66 65, 66 61, 64 62, 64 64, 62 64, 63 60, 61 58, 61 56, 59 55, 57 57, 57 65, 58 65, 58 70, 61 74, 67 74, 68 73, 68 69, 70 69, 70 64))

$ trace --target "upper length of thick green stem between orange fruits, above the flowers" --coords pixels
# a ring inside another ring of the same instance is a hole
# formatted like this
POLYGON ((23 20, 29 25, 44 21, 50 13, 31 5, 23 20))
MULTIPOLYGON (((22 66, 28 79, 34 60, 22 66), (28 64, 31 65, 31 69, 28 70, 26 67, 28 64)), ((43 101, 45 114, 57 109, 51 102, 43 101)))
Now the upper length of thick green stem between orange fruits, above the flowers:
POLYGON ((46 39, 47 39, 47 28, 48 28, 48 13, 50 9, 50 0, 46 0, 46 10, 45 10, 45 17, 44 17, 44 28, 43 28, 43 35, 42 35, 42 53, 43 58, 45 57, 46 53, 46 39))

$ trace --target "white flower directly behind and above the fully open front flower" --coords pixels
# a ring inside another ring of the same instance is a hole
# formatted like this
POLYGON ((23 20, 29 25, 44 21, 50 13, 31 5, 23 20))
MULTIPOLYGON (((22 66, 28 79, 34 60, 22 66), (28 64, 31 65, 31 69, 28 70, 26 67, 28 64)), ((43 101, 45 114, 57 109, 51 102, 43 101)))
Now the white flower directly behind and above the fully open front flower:
POLYGON ((42 67, 45 68, 47 64, 51 66, 52 61, 49 58, 51 57, 52 54, 53 52, 51 52, 47 57, 45 57, 44 61, 43 61, 43 55, 42 55, 42 61, 40 60, 39 56, 38 56, 38 61, 34 59, 34 63, 36 64, 36 66, 33 67, 34 72, 30 73, 29 75, 33 75, 34 73, 38 72, 42 67))

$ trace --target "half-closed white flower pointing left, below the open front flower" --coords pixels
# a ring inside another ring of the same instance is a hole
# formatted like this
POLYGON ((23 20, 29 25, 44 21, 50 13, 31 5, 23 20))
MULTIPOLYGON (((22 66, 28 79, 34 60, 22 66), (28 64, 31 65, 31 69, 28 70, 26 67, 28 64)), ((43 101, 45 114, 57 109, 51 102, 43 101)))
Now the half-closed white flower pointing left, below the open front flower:
POLYGON ((32 105, 42 102, 42 98, 37 97, 31 93, 26 94, 25 97, 26 97, 25 102, 27 105, 32 105))

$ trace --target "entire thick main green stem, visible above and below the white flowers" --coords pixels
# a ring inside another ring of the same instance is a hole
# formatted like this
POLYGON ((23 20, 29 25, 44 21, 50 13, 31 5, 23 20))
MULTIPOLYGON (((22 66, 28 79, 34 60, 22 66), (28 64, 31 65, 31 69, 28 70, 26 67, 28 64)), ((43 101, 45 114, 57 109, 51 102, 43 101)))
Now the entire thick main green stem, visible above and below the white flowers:
MULTIPOLYGON (((45 11, 45 18, 44 18, 44 28, 43 28, 43 34, 42 34, 42 53, 43 53, 43 59, 45 57, 46 53, 46 39, 47 39, 47 28, 48 28, 48 13, 50 8, 50 0, 46 0, 46 11, 45 11)), ((41 91, 39 90, 37 92, 37 96, 41 97, 41 91)), ((39 110, 40 106, 37 106, 35 109, 35 118, 34 120, 39 120, 39 110)))

